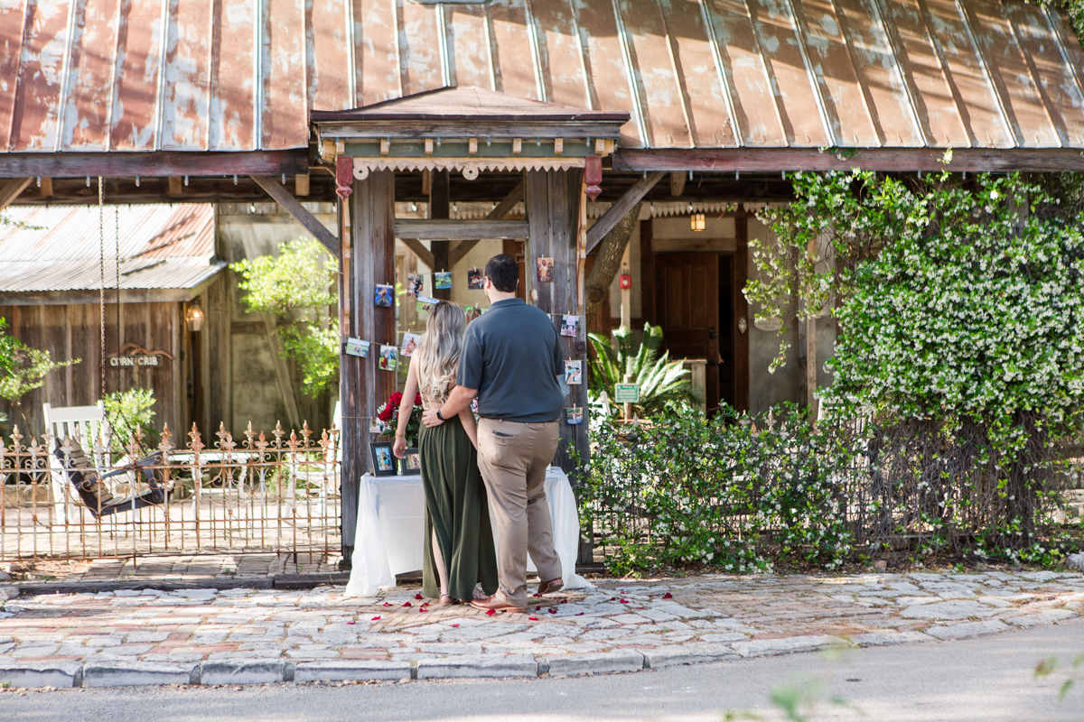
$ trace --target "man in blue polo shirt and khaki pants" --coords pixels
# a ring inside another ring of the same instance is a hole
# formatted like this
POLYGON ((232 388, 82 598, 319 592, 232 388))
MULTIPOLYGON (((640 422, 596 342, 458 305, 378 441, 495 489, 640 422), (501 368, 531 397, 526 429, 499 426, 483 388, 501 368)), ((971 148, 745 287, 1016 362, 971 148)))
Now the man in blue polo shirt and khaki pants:
POLYGON ((501 586, 472 605, 496 612, 527 608, 528 551, 539 593, 563 587, 543 485, 557 450, 565 360, 550 316, 516 298, 518 284, 512 257, 494 255, 486 264, 489 312, 467 327, 448 401, 422 417, 426 426, 439 425, 478 397, 478 467, 496 521, 501 586))

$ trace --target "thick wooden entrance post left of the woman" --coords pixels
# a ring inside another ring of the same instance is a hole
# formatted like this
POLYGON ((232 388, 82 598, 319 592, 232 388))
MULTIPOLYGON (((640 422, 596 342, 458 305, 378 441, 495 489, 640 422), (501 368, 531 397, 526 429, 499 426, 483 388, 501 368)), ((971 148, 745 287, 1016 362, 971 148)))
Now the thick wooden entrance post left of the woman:
POLYGON ((395 283, 395 174, 372 171, 364 181, 356 181, 349 200, 352 244, 344 253, 349 264, 345 275, 344 298, 349 299, 349 314, 343 336, 372 343, 369 358, 339 356, 339 399, 343 406, 343 564, 349 565, 358 521, 358 482, 369 471, 370 419, 396 388, 396 375, 377 368, 380 344, 395 344, 395 309, 373 303, 376 284, 395 283))

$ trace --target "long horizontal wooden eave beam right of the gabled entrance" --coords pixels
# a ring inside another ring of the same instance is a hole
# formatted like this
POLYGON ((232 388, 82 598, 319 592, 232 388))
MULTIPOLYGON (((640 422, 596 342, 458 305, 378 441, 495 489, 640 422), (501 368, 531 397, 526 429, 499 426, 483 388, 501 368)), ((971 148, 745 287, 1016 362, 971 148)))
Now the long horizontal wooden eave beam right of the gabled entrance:
POLYGON ((1072 148, 953 148, 943 162, 944 148, 659 148, 614 153, 615 171, 848 171, 852 168, 886 172, 968 171, 1080 172, 1084 155, 1072 148))

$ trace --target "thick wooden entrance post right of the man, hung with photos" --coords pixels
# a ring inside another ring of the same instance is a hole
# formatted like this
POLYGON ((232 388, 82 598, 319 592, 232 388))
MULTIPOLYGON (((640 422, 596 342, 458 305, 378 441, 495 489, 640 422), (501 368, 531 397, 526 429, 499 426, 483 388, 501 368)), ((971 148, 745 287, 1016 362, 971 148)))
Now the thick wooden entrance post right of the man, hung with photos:
MULTIPOLYGON (((537 274, 535 259, 553 259, 554 281, 533 284, 538 289, 535 305, 551 314, 557 325, 560 324, 564 314, 580 316, 577 338, 562 337, 560 342, 566 359, 580 359, 586 366, 586 319, 583 317, 582 302, 585 280, 583 263, 585 238, 580 213, 583 198, 581 170, 527 173, 527 221, 530 238, 527 241, 526 275, 533 277, 537 274)), ((583 369, 583 377, 586 380, 586 368, 583 369)), ((568 391, 566 406, 582 408, 583 423, 569 425, 565 413, 562 412, 560 443, 553 463, 569 475, 575 489, 579 487, 580 470, 585 469, 591 460, 588 443, 588 385, 583 383, 569 386, 568 391), (573 451, 579 456, 579 463, 573 458, 573 451)), ((592 561, 589 537, 585 543, 581 540, 580 562, 592 561)))

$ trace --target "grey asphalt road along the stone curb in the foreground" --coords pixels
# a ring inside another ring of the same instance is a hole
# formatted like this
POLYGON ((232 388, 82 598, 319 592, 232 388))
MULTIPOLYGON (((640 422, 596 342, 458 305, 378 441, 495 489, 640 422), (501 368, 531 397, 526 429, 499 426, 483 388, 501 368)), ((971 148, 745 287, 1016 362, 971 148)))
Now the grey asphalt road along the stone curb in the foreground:
POLYGON ((1055 722, 1084 720, 1084 668, 1062 703, 1064 678, 1036 681, 1033 670, 1046 657, 1069 661, 1082 653, 1084 619, 963 642, 856 649, 839 659, 801 654, 593 678, 7 692, 0 720, 721 722, 726 711, 743 710, 775 720, 784 718, 769 701, 773 690, 828 678, 824 696, 840 695, 853 709, 824 703, 809 720, 1055 722))

